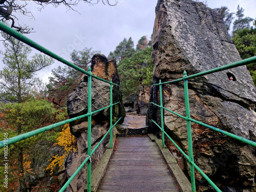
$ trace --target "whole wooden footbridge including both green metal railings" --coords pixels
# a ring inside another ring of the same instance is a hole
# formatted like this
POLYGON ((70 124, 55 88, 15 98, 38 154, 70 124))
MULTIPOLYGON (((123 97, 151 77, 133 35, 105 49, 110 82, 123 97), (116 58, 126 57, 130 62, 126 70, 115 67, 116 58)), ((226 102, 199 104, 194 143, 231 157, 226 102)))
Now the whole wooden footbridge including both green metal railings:
MULTIPOLYGON (((8 33, 9 35, 17 38, 20 41, 25 42, 25 44, 37 49, 38 51, 45 53, 56 60, 76 69, 88 76, 88 113, 80 115, 78 117, 74 117, 65 121, 61 121, 49 126, 42 127, 40 129, 18 135, 8 140, 0 141, 0 148, 6 147, 12 143, 27 139, 29 137, 33 137, 34 135, 44 133, 46 131, 52 130, 57 126, 64 125, 66 123, 87 117, 88 118, 88 156, 81 163, 81 165, 77 168, 75 173, 69 178, 69 180, 62 186, 59 190, 60 192, 65 191, 67 186, 71 183, 71 181, 75 178, 81 168, 87 163, 88 166, 88 187, 85 190, 88 191, 196 191, 196 182, 195 182, 195 168, 198 172, 209 182, 209 184, 218 192, 221 192, 219 187, 212 182, 208 176, 201 170, 194 162, 193 157, 193 142, 191 137, 191 122, 197 123, 206 127, 207 129, 214 130, 221 134, 224 134, 233 139, 244 142, 245 144, 256 147, 256 142, 248 140, 246 138, 234 135, 232 133, 223 131, 218 129, 217 127, 210 126, 208 124, 202 123, 190 117, 189 112, 189 98, 188 98, 188 79, 192 79, 195 77, 200 77, 203 75, 220 72, 223 70, 247 65, 249 63, 256 62, 256 56, 244 59, 242 61, 237 61, 233 63, 229 63, 228 65, 221 66, 215 69, 211 69, 208 71, 203 71, 197 74, 187 76, 184 71, 183 78, 176 79, 168 82, 161 82, 153 84, 152 86, 159 87, 160 99, 155 101, 157 103, 151 102, 150 104, 157 106, 160 108, 161 112, 161 120, 158 120, 159 124, 155 122, 153 119, 151 120, 157 127, 159 127, 162 133, 162 139, 156 139, 153 135, 148 135, 145 137, 118 137, 117 139, 112 134, 112 130, 115 125, 119 122, 121 118, 117 120, 117 117, 113 118, 113 107, 118 104, 120 101, 113 104, 112 102, 112 88, 113 86, 119 86, 111 81, 102 79, 94 74, 92 74, 91 69, 89 71, 85 71, 71 62, 61 58, 60 56, 54 54, 48 49, 40 46, 36 42, 32 41, 28 37, 14 29, 8 27, 4 23, 0 22, 0 30, 8 33), (102 109, 97 111, 92 111, 92 78, 96 78, 98 80, 104 81, 110 84, 110 105, 105 106, 102 109), (164 108, 163 99, 162 99, 162 86, 167 83, 175 83, 175 82, 184 82, 184 95, 185 95, 185 111, 186 116, 182 116, 177 114, 169 109, 164 108), (92 131, 92 116, 104 109, 110 108, 110 129, 104 135, 104 137, 99 141, 97 146, 92 150, 91 146, 91 131, 92 131), (173 141, 172 138, 164 131, 164 116, 163 110, 166 110, 186 121, 187 124, 187 142, 188 142, 188 155, 182 151, 182 149, 173 141), (114 124, 112 125, 114 121, 114 124), (98 146, 102 142, 102 140, 110 133, 110 143, 109 148, 106 149, 106 152, 98 164, 97 168, 94 170, 93 174, 91 174, 91 157, 95 150, 97 150, 98 146), (178 150, 184 155, 184 157, 188 160, 190 166, 190 181, 184 176, 183 172, 179 168, 176 160, 172 156, 172 154, 168 151, 168 149, 164 145, 164 136, 178 148, 178 150), (115 142, 116 141, 116 142, 115 142), (115 149, 115 150, 114 150, 115 149), (113 154, 113 155, 112 155, 113 154), (112 156, 111 156, 112 155, 112 156)), ((115 109, 114 109, 115 110, 115 109)), ((143 129, 142 129, 143 131, 143 129)))

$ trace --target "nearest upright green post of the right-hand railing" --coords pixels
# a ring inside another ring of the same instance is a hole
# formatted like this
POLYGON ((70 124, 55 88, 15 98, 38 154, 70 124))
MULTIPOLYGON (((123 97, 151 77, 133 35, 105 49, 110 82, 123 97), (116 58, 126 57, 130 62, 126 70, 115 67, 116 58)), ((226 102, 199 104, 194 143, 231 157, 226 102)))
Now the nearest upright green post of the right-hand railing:
POLYGON ((193 143, 192 143, 192 135, 191 135, 191 122, 190 122, 190 112, 189 112, 189 99, 188 99, 188 86, 187 80, 187 72, 184 71, 184 95, 185 95, 185 108, 186 108, 186 122, 187 122, 187 142, 188 142, 188 156, 189 156, 189 165, 190 165, 190 178, 191 178, 191 188, 192 191, 196 192, 196 181, 195 181, 195 170, 194 165, 191 162, 194 162, 193 157, 193 143))

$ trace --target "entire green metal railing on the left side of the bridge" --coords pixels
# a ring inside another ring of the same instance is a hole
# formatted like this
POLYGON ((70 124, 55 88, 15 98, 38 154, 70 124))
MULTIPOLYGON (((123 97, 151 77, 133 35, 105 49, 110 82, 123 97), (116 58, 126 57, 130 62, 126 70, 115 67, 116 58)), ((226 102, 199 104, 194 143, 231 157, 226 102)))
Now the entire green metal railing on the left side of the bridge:
MULTIPOLYGON (((111 81, 107 81, 105 79, 102 79, 100 77, 97 77, 96 75, 93 75, 92 72, 91 72, 91 68, 89 67, 89 70, 88 72, 73 65, 71 62, 61 58, 60 56, 54 54, 53 52, 47 50, 46 48, 38 45, 36 42, 34 42, 33 40, 29 39, 28 37, 26 37, 25 35, 15 31, 14 29, 10 28, 9 26, 5 25, 3 22, 0 22, 0 29, 2 31, 4 31, 5 33, 17 38, 18 40, 20 41, 23 41, 25 42, 25 44, 37 49, 38 51, 42 52, 42 53, 45 53, 47 55, 49 55, 50 57, 53 57, 55 59, 57 59, 58 61, 64 63, 65 65, 68 65, 70 67, 72 67, 73 69, 76 69, 84 74, 86 74, 88 76, 88 113, 87 114, 84 114, 84 115, 81 115, 81 116, 78 116, 78 117, 74 117, 74 118, 71 118, 71 119, 68 119, 68 120, 65 120, 65 121, 61 121, 61 122, 58 122, 58 123, 55 123, 55 124, 52 124, 52 125, 49 125, 49 126, 45 126, 45 127, 42 127, 40 129, 37 129, 37 130, 34 130, 34 131, 31 131, 31 132, 28 132, 28 133, 25 133, 25 134, 22 134, 22 135, 18 135, 18 136, 15 136, 15 137, 12 137, 10 139, 8 139, 8 144, 13 144, 15 142, 18 142, 18 141, 21 141, 21 140, 24 140, 24 139, 27 139, 29 137, 32 137, 34 135, 37 135, 37 134, 40 134, 42 132, 45 132, 45 131, 49 131, 49 130, 52 130, 54 129, 55 127, 57 126, 60 126, 60 125, 63 125, 63 124, 66 124, 66 123, 69 123, 69 122, 72 122, 72 121, 75 121, 77 119, 81 119, 81 118, 84 118, 84 117, 88 117, 88 156, 87 158, 82 162, 82 164, 77 168, 77 170, 75 171, 75 173, 69 178, 69 180, 65 183, 65 185, 63 185, 63 187, 59 190, 59 191, 64 191, 68 185, 71 183, 71 181, 75 178, 75 176, 78 174, 78 172, 81 170, 81 168, 84 166, 84 164, 86 164, 88 162, 88 169, 87 169, 87 190, 90 192, 91 191, 91 157, 93 155, 93 153, 96 151, 96 149, 99 147, 99 145, 101 144, 101 142, 105 139, 105 137, 110 133, 110 147, 112 148, 112 137, 113 137, 113 127, 118 123, 118 121, 121 119, 121 117, 116 121, 116 123, 114 125, 112 125, 113 123, 113 106, 118 104, 119 102, 116 102, 113 104, 113 101, 112 101, 112 92, 113 92, 113 86, 119 86, 118 84, 115 84, 111 81), (102 109, 99 109, 97 111, 93 111, 92 112, 92 77, 98 79, 98 80, 101 80, 101 81, 104 81, 104 82, 107 82, 110 84, 110 105, 108 106, 105 106, 104 108, 102 109), (92 115, 95 114, 95 113, 98 113, 104 109, 107 109, 107 108, 110 108, 110 129, 108 130, 108 132, 103 136, 103 138, 99 141, 99 143, 95 146, 95 148, 93 149, 92 151, 92 146, 91 146, 91 134, 92 134, 92 115)), ((0 148, 4 147, 4 140, 3 141, 0 141, 0 148)))

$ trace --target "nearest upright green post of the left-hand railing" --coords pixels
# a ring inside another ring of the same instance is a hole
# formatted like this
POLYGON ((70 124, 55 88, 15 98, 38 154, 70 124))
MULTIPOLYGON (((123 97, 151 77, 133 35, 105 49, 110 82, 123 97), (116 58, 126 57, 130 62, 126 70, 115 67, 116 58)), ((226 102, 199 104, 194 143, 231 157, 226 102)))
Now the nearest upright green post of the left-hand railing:
POLYGON ((92 155, 92 71, 91 67, 88 69, 89 75, 88 75, 88 130, 87 130, 87 137, 88 137, 88 151, 87 155, 90 157, 88 163, 87 163, 87 191, 91 192, 91 168, 92 168, 92 161, 91 161, 91 155, 92 155))

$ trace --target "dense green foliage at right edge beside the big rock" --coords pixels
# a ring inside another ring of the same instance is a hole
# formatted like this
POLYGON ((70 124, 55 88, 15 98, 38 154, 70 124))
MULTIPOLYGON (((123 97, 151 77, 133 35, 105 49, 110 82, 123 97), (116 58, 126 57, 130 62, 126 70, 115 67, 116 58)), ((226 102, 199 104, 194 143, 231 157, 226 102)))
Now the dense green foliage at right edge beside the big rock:
MULTIPOLYGON (((237 30, 232 40, 242 59, 256 55, 256 29, 251 27, 250 29, 244 28, 242 30, 237 30)), ((251 63, 246 67, 256 86, 256 63, 251 63)))

